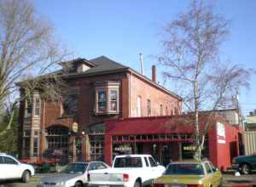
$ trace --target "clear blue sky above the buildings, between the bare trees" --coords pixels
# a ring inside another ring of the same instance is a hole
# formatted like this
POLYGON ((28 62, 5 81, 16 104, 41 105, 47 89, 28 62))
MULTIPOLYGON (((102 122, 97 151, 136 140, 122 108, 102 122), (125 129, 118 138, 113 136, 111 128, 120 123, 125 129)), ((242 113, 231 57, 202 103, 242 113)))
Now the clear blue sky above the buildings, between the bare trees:
MULTIPOLYGON (((56 36, 77 57, 108 56, 139 70, 143 53, 144 71, 151 77, 152 55, 160 53, 160 32, 168 20, 189 6, 189 0, 36 0, 40 14, 55 26, 56 36)), ((221 48, 221 58, 248 68, 256 67, 256 1, 211 1, 216 11, 231 20, 230 36, 221 48)), ((161 70, 158 79, 161 82, 161 70)), ((172 88, 171 88, 172 89, 172 88)), ((256 76, 249 91, 240 96, 244 115, 256 109, 256 76)))

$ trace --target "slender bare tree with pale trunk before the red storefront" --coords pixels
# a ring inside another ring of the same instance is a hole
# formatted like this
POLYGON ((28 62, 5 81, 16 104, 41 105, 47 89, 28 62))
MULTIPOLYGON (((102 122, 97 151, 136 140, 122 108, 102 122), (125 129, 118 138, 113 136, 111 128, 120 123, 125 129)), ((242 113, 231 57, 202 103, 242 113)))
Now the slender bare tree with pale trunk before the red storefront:
MULTIPOLYGON (((196 159, 201 159, 210 124, 206 122, 204 129, 199 129, 199 111, 223 108, 241 87, 249 87, 252 70, 221 63, 218 58, 228 34, 229 21, 203 1, 192 2, 188 11, 179 14, 164 30, 164 50, 158 60, 166 68, 164 77, 177 84, 183 104, 193 114, 196 159)), ((210 119, 213 112, 207 114, 210 119)))

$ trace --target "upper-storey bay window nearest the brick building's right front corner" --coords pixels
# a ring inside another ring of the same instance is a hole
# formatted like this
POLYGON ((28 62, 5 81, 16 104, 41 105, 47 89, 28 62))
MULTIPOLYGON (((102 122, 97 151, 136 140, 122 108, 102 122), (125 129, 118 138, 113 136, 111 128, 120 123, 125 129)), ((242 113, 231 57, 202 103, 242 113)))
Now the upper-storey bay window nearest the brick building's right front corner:
POLYGON ((95 113, 119 113, 119 82, 96 82, 95 113))

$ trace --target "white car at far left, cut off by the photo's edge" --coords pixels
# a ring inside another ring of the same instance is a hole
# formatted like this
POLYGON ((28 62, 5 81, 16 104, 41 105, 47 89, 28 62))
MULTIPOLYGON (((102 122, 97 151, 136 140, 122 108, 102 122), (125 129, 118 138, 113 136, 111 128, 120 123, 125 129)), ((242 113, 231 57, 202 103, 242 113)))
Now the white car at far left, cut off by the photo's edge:
POLYGON ((15 157, 0 153, 0 180, 21 179, 27 183, 34 173, 32 165, 20 163, 15 157))

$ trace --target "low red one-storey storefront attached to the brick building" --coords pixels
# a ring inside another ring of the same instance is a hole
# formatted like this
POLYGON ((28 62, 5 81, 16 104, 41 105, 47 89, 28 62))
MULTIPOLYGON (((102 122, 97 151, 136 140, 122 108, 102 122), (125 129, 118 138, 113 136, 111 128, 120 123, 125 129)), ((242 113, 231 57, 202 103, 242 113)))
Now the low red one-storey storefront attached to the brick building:
MULTIPOLYGON (((161 164, 193 158, 194 127, 189 116, 140 117, 105 121, 104 160, 121 154, 151 154, 161 164)), ((206 116, 200 116, 200 128, 206 116)), ((220 116, 211 118, 202 155, 219 168, 230 167, 240 155, 241 129, 220 116)))

